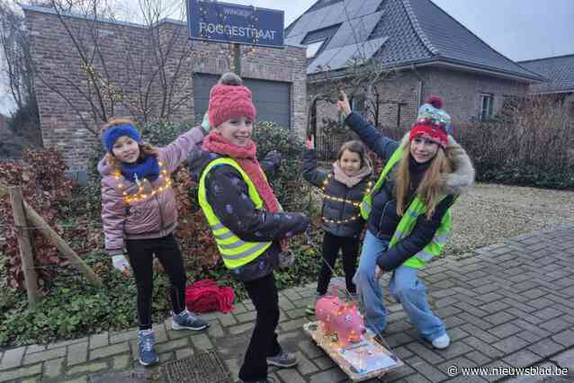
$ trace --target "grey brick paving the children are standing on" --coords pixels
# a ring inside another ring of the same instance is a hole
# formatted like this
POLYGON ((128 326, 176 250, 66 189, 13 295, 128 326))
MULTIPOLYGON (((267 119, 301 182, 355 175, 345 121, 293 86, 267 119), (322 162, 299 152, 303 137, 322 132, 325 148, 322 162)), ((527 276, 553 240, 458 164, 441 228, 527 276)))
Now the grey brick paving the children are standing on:
MULTIPOLYGON (((453 343, 436 351, 408 323, 400 305, 389 303, 385 338, 405 366, 382 381, 483 382, 502 376, 449 377, 450 366, 561 367, 574 381, 574 225, 517 236, 481 248, 466 259, 441 259, 421 272, 431 305, 444 319, 453 343)), ((386 285, 388 281, 382 281, 386 285)), ((334 383, 346 376, 303 333, 304 307, 314 285, 283 290, 280 342, 296 350, 296 369, 272 369, 279 382, 334 383)), ((208 332, 171 331, 171 319, 155 325, 161 362, 217 350, 234 378, 256 316, 250 302, 232 314, 204 316, 208 332)), ((0 382, 162 381, 159 370, 137 362, 137 330, 106 332, 74 341, 23 346, 0 352, 0 382)), ((548 378, 546 378, 548 379, 548 378)), ((511 381, 543 381, 519 376, 511 381)), ((377 381, 377 380, 372 380, 377 381)), ((552 378, 544 381, 566 381, 552 378)))

